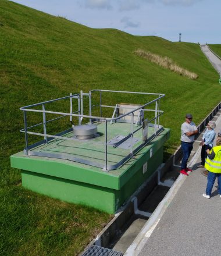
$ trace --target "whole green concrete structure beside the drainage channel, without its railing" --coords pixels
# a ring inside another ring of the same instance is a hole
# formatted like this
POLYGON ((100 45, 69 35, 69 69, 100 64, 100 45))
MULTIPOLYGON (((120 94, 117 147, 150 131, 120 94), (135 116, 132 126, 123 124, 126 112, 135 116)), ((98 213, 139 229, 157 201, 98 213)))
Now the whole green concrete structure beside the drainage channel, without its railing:
MULTIPOLYGON (((74 157, 104 164, 105 148, 92 141, 104 141, 104 123, 97 123, 99 137, 88 141, 51 140, 47 144, 38 145, 35 152, 65 152, 74 157)), ((130 133, 130 123, 108 124, 108 140, 117 134, 125 136, 130 133), (111 126, 111 129, 110 129, 111 126)), ((67 159, 25 155, 19 152, 11 156, 13 168, 22 170, 22 185, 26 189, 58 198, 74 204, 83 204, 115 214, 131 194, 156 171, 163 160, 163 144, 169 138, 169 129, 163 129, 158 136, 138 151, 133 158, 120 168, 104 172, 101 168, 86 165, 67 159)), ((148 127, 148 135, 154 134, 154 127, 148 127)), ((73 136, 73 131, 65 134, 73 136)), ((134 145, 142 144, 142 129, 134 134, 140 140, 134 145)), ((108 146, 108 163, 117 163, 128 155, 130 149, 108 146)))

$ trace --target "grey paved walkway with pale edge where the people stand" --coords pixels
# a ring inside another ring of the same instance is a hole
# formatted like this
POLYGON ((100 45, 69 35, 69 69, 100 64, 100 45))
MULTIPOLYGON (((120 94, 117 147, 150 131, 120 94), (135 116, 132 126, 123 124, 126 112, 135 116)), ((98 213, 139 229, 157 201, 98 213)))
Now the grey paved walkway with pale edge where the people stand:
MULTIPOLYGON (((221 110, 213 118, 216 132, 221 129, 221 110)), ((202 137, 202 134, 201 134, 202 137)), ((200 140, 200 138, 198 138, 200 140)), ((180 175, 173 184, 163 206, 158 205, 152 217, 142 228, 124 255, 139 256, 220 256, 221 198, 217 180, 211 199, 205 193, 206 177, 201 163, 201 147, 195 142, 195 155, 189 176, 180 175)))

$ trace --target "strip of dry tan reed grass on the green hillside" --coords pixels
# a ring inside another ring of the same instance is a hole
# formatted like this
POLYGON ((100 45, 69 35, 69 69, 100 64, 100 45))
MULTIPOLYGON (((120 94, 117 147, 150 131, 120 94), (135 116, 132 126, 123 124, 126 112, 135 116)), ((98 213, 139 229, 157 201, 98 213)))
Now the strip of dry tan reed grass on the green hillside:
POLYGON ((167 56, 160 56, 157 54, 153 54, 152 52, 146 52, 142 49, 137 49, 134 53, 142 58, 148 59, 151 62, 158 64, 159 66, 165 67, 166 69, 170 69, 173 72, 180 74, 181 76, 186 76, 188 79, 195 80, 198 78, 198 74, 188 71, 187 69, 183 69, 183 67, 178 66, 172 59, 167 56))

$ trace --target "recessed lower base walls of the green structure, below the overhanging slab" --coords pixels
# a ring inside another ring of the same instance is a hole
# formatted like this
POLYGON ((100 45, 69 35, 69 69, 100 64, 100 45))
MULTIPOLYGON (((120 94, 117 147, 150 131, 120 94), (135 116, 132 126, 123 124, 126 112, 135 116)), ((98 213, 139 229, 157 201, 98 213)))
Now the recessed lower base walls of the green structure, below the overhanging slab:
POLYGON ((22 170, 22 185, 26 189, 62 201, 88 205, 109 214, 114 214, 131 194, 155 172, 156 168, 162 163, 162 157, 163 147, 149 159, 147 172, 145 173, 143 173, 142 165, 147 161, 147 155, 144 156, 144 159, 140 159, 140 169, 120 190, 62 179, 42 173, 28 172, 27 170, 22 170))

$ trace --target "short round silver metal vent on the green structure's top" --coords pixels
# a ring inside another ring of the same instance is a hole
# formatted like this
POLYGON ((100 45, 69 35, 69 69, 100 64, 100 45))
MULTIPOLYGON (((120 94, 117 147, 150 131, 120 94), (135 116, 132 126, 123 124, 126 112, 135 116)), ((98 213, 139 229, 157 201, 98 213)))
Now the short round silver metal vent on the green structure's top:
POLYGON ((73 127, 74 135, 80 140, 94 138, 97 134, 97 125, 78 125, 73 127))

